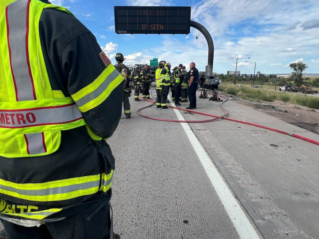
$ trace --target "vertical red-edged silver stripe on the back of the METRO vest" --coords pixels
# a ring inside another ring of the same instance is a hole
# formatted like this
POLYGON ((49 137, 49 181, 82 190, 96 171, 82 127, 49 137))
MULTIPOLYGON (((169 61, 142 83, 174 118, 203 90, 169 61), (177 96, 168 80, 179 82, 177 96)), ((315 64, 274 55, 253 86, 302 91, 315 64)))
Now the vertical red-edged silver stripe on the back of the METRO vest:
POLYGON ((8 5, 9 44, 11 49, 11 66, 14 81, 17 86, 17 98, 21 100, 34 100, 34 87, 29 66, 27 63, 26 44, 28 0, 17 0, 8 5))

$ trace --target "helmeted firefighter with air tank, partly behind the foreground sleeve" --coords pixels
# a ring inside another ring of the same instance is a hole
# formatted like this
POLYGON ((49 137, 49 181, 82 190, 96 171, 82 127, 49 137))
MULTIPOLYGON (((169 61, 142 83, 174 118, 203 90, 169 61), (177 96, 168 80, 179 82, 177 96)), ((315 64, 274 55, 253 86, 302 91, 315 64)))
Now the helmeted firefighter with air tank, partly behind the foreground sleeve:
POLYGON ((129 97, 131 96, 131 93, 133 90, 133 82, 132 82, 132 74, 130 72, 130 69, 127 68, 123 61, 126 58, 124 58, 122 53, 117 53, 115 55, 116 65, 115 69, 123 76, 124 78, 124 94, 123 94, 123 108, 124 108, 124 114, 126 116, 126 119, 131 118, 131 105, 129 97))

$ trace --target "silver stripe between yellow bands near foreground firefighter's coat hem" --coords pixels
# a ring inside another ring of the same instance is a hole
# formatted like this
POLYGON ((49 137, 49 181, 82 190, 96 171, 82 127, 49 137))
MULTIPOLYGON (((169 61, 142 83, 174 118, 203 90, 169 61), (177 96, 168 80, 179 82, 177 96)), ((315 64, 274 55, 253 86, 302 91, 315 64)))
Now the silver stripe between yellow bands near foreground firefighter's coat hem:
MULTIPOLYGON (((99 187, 99 185, 100 185, 100 179, 92 181, 92 182, 87 182, 87 183, 73 184, 73 185, 68 185, 68 186, 46 188, 46 189, 39 189, 39 190, 23 190, 23 189, 17 189, 17 188, 13 188, 10 186, 4 186, 4 185, 0 184, 0 189, 6 190, 9 192, 16 192, 16 193, 19 193, 21 195, 26 195, 26 196, 46 196, 46 195, 49 195, 51 197, 52 195, 56 195, 56 194, 68 193, 68 192, 74 192, 74 191, 78 191, 78 190, 86 190, 86 189, 90 189, 90 188, 94 188, 94 187, 99 187)), ((57 197, 61 197, 61 196, 57 195, 57 197)))

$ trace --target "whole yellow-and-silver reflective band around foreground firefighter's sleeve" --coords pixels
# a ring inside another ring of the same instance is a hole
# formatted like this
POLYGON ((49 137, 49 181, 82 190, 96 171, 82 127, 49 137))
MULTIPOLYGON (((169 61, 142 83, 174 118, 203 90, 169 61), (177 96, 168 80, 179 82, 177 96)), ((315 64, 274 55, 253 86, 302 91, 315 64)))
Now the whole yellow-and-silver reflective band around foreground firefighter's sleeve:
POLYGON ((102 103, 124 80, 113 65, 109 65, 96 80, 71 95, 81 112, 93 109, 102 103))

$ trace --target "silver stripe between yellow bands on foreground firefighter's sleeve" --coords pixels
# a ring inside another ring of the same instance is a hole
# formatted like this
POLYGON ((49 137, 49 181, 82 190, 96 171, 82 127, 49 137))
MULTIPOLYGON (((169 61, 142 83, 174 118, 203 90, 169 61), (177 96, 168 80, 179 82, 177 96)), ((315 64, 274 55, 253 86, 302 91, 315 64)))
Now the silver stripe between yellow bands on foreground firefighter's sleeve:
POLYGON ((119 76, 119 72, 114 69, 106 78, 105 80, 99 85, 98 88, 96 88, 94 91, 91 93, 87 94, 86 96, 80 98, 79 100, 76 100, 75 102, 77 103, 78 107, 85 105, 86 103, 98 98, 103 91, 105 91, 109 84, 112 83, 112 81, 119 76))

